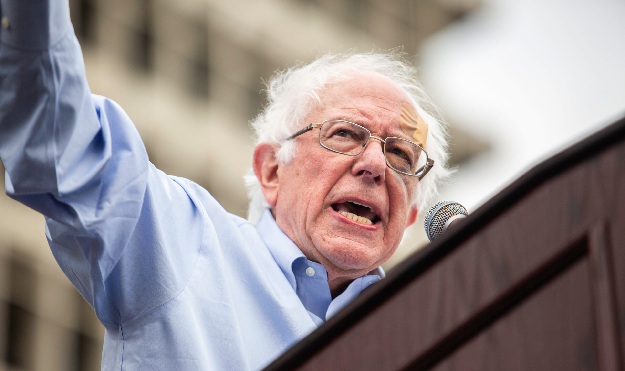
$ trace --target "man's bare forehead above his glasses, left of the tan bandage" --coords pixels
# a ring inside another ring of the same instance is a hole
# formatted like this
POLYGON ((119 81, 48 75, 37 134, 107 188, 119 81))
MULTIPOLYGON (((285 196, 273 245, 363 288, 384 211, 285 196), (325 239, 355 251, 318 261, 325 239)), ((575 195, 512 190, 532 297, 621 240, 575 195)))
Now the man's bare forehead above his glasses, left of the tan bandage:
POLYGON ((320 104, 312 107, 308 119, 347 119, 369 130, 403 134, 399 126, 401 104, 409 102, 406 92, 391 79, 377 73, 352 73, 339 83, 319 91, 320 104))

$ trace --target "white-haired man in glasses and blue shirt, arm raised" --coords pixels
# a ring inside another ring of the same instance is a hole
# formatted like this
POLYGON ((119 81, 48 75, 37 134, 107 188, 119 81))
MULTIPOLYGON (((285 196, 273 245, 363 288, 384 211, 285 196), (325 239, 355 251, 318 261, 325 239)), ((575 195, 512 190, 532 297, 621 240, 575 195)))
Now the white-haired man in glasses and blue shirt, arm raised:
POLYGON ((106 328, 105 370, 264 367, 384 277, 445 173, 414 69, 322 56, 277 74, 252 123, 252 225, 154 168, 124 111, 90 93, 66 0, 1 5, 6 192, 46 217, 106 328))

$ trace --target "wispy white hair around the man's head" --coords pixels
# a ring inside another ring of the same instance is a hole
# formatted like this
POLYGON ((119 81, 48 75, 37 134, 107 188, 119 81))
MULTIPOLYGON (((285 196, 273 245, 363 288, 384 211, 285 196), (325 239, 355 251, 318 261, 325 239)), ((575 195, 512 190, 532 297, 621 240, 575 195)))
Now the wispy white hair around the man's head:
MULTIPOLYGON (((413 203, 422 210, 438 194, 438 186, 450 171, 447 169, 447 134, 441 112, 432 103, 417 79, 417 69, 397 50, 370 53, 327 53, 312 63, 299 63, 278 71, 267 82, 267 104, 251 126, 256 133, 255 144, 273 143, 280 148, 278 163, 286 164, 296 155, 295 141, 284 141, 292 133, 308 124, 306 115, 313 104, 321 103, 319 91, 327 84, 338 83, 350 77, 347 74, 374 72, 397 83, 410 97, 412 106, 429 126, 426 152, 435 163, 419 181, 413 203)), ((249 197, 247 219, 256 223, 264 208, 269 206, 261 186, 250 169, 244 176, 249 197)))

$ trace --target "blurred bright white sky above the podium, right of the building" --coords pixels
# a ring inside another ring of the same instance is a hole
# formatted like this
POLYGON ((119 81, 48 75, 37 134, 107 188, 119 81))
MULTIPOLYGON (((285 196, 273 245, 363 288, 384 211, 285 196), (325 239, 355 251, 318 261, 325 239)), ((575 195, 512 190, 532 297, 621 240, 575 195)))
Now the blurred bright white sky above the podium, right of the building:
POLYGON ((491 143, 442 191, 474 210, 527 168, 625 113, 625 3, 491 0, 421 48, 453 125, 491 143))

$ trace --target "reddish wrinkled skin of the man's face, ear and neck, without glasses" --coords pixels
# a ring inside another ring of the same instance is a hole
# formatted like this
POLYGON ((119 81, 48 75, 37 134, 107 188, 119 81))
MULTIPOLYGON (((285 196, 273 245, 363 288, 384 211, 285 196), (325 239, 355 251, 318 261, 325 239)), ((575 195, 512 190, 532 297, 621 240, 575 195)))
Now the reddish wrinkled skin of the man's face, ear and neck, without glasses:
MULTIPOLYGON (((399 126, 407 94, 390 79, 353 73, 319 92, 305 123, 344 119, 369 129, 372 136, 407 138, 399 126)), ((346 156, 319 145, 319 130, 297 141, 295 158, 279 164, 277 146, 261 143, 254 150, 254 171, 277 225, 313 262, 327 270, 332 297, 349 282, 379 267, 395 252, 404 230, 416 220, 411 205, 418 180, 388 168, 382 144, 372 139, 358 156, 346 156), (358 200, 370 205, 377 223, 347 219, 332 205, 358 200)))

